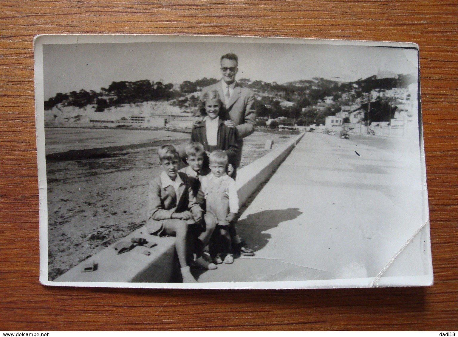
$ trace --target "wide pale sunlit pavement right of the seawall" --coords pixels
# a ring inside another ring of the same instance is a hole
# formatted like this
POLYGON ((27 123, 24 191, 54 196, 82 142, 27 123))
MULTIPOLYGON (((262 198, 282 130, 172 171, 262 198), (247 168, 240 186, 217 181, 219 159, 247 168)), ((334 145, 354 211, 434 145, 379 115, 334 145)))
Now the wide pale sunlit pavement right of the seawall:
MULTIPOLYGON (((240 217, 256 256, 199 282, 375 277, 423 223, 419 150, 404 139, 350 137, 306 134, 240 217)), ((386 276, 427 272, 426 234, 386 276)))

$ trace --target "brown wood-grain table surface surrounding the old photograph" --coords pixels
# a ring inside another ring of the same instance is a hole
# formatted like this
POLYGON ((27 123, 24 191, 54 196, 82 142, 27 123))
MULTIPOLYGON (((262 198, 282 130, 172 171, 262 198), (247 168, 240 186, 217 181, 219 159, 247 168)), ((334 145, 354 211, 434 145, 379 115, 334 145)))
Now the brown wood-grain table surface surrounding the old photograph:
POLYGON ((455 0, 2 0, 0 330, 457 330, 457 21, 455 0), (40 285, 33 37, 45 33, 418 43, 435 284, 300 291, 40 285))

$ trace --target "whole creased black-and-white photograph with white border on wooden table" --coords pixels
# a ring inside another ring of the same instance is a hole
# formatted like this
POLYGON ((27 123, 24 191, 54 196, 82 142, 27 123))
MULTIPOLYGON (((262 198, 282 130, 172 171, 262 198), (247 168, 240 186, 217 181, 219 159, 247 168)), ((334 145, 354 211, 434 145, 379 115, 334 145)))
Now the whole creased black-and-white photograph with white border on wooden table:
POLYGON ((433 283, 416 44, 41 35, 34 57, 42 284, 433 283))

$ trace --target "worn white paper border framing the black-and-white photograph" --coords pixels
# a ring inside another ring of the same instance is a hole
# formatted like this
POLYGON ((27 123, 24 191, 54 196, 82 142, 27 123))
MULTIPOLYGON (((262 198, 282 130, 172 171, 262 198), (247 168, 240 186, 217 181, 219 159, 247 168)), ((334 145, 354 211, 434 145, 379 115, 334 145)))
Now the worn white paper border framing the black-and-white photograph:
MULTIPOLYGON (((416 48, 415 43, 383 42, 383 41, 351 41, 351 40, 327 40, 305 39, 285 37, 231 37, 231 36, 207 36, 207 35, 39 35, 34 39, 35 60, 35 116, 37 129, 37 160, 38 160, 38 188, 39 188, 39 242, 40 242, 40 282, 44 285, 71 286, 71 287, 106 287, 106 288, 186 288, 186 289, 315 289, 315 288, 367 288, 367 287, 391 287, 391 286, 428 286, 433 282, 431 269, 430 275, 412 277, 382 277, 378 283, 373 284, 374 278, 350 278, 332 280, 310 281, 285 281, 285 282, 222 282, 200 284, 176 284, 176 283, 98 283, 98 282, 55 282, 48 280, 48 200, 46 184, 46 159, 44 140, 44 44, 77 44, 77 43, 151 43, 151 42, 222 42, 225 43, 298 43, 298 44, 331 44, 350 46, 385 46, 398 48, 416 48)), ((420 83, 418 90, 420 91, 420 83)), ((421 113, 419 102, 419 114, 421 113)), ((421 121, 421 118, 420 118, 421 121)), ((427 234, 427 249, 431 257, 431 241, 429 230, 428 198, 426 191, 425 154, 423 144, 422 124, 420 128, 420 160, 423 171, 424 195, 424 224, 427 234)), ((421 226, 420 228, 423 228, 421 226)), ((407 244, 407 243, 406 243, 407 244)), ((395 258, 395 257, 393 257, 395 258)), ((432 264, 431 264, 432 268, 432 264)))

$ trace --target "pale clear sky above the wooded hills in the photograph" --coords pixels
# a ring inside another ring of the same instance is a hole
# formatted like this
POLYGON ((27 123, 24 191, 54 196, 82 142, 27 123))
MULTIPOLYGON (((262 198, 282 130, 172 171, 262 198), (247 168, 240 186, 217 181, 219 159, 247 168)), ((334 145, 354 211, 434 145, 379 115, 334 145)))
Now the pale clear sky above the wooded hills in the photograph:
POLYGON ((45 44, 44 99, 58 92, 100 91, 112 81, 221 78, 219 59, 239 57, 237 79, 277 82, 310 80, 353 81, 380 71, 417 73, 414 49, 331 44, 289 43, 78 43, 45 44))

